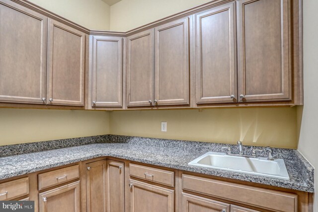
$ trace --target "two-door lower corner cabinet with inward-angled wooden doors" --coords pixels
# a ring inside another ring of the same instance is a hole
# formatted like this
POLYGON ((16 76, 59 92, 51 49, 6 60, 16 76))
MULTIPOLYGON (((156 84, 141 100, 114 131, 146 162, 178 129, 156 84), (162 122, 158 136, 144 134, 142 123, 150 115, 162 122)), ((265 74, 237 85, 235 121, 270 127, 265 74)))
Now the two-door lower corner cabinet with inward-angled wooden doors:
POLYGON ((124 212, 124 167, 114 160, 86 163, 87 212, 124 212))

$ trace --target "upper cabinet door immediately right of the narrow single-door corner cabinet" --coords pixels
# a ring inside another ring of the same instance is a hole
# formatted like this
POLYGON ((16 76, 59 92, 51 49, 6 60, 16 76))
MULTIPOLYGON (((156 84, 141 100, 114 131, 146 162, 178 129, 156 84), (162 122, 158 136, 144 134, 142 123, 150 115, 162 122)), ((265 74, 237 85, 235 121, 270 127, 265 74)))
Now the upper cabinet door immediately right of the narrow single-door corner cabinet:
POLYGON ((127 106, 154 102, 154 29, 127 38, 127 106))

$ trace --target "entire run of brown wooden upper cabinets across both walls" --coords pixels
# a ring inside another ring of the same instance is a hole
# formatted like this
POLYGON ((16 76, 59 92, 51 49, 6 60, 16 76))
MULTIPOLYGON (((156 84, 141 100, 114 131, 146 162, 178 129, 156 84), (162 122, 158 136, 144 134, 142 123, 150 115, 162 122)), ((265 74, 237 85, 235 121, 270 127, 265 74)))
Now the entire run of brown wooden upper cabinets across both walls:
POLYGON ((211 1, 127 33, 88 34, 32 3, 0 0, 0 107, 303 104, 298 0, 211 1))

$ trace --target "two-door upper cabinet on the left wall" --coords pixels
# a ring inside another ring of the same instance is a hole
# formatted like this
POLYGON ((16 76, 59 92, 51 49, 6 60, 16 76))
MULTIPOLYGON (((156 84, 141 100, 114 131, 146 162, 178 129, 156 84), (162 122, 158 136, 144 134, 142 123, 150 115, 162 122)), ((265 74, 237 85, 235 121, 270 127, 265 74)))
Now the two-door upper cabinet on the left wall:
POLYGON ((0 1, 0 101, 84 106, 85 33, 0 1))

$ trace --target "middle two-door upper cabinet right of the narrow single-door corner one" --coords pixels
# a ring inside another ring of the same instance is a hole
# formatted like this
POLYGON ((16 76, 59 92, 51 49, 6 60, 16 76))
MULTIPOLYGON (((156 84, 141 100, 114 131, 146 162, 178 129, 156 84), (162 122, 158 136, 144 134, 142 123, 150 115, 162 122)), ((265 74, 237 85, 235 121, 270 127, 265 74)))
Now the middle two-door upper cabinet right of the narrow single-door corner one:
POLYGON ((127 106, 188 105, 189 17, 127 38, 127 106))

